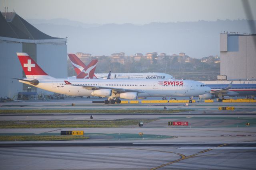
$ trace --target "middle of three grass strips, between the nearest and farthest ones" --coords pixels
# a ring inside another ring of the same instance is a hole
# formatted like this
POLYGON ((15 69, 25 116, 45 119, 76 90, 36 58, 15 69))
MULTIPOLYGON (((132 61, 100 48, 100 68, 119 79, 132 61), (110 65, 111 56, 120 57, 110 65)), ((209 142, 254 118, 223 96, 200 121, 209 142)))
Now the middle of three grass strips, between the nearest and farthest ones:
POLYGON ((116 119, 116 120, 38 120, 38 121, 0 121, 0 128, 88 128, 121 127, 148 123, 156 119, 116 119))

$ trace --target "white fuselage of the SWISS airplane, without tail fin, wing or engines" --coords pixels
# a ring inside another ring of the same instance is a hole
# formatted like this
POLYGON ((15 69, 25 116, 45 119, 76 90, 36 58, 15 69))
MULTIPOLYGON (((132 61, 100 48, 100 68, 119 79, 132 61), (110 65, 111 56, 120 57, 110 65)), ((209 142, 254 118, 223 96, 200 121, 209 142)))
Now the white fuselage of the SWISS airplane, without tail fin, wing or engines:
MULTIPOLYGON (((33 79, 26 79, 33 80, 33 79)), ((22 83, 70 96, 94 96, 91 93, 93 90, 87 90, 83 86, 100 86, 104 88, 120 88, 141 90, 138 97, 163 97, 163 96, 199 96, 210 91, 209 87, 200 86, 201 82, 192 80, 127 80, 127 79, 68 79, 73 86, 65 84, 62 78, 54 79, 37 79, 39 83, 33 85, 30 82, 19 80, 22 83), (179 83, 177 83, 179 82, 179 83), (181 83, 182 82, 182 83, 181 83)))

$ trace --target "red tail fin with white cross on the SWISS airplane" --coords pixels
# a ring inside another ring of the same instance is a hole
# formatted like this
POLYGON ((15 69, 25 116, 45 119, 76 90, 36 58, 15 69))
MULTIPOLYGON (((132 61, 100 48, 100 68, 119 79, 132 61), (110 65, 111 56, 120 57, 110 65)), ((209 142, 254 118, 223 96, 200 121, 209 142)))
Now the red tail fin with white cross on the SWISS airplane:
POLYGON ((27 53, 17 53, 17 55, 26 78, 53 78, 46 74, 27 53))

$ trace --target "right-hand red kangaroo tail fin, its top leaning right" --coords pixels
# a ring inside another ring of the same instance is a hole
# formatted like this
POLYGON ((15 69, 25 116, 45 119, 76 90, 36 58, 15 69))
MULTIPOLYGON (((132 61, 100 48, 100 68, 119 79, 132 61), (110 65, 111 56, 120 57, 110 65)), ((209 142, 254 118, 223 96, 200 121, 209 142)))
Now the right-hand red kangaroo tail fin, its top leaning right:
POLYGON ((94 71, 98 60, 92 60, 85 68, 76 76, 76 78, 94 78, 94 71))

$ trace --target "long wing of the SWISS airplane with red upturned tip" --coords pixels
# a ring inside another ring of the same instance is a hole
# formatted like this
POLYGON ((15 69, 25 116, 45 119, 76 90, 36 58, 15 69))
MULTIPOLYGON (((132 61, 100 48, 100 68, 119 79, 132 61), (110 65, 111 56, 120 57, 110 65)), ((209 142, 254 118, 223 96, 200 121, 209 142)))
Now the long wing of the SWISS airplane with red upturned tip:
POLYGON ((85 88, 86 90, 112 89, 112 92, 114 92, 114 93, 125 93, 125 92, 145 93, 143 90, 138 90, 138 89, 125 89, 125 88, 115 88, 115 87, 76 85, 76 84, 72 84, 72 83, 70 83, 66 80, 64 80, 64 82, 66 83, 66 85, 80 86, 80 87, 85 88))

